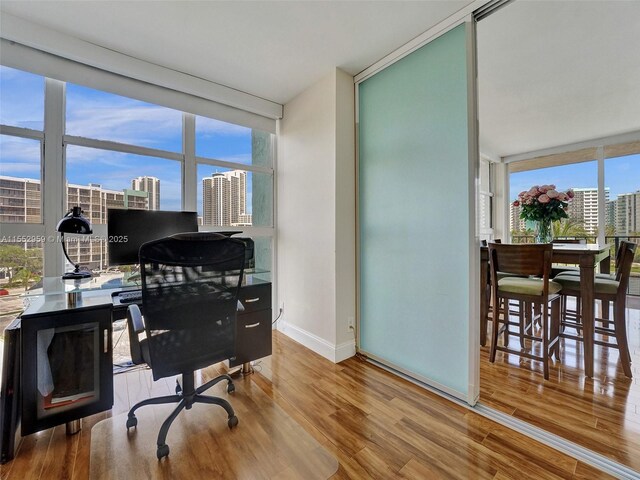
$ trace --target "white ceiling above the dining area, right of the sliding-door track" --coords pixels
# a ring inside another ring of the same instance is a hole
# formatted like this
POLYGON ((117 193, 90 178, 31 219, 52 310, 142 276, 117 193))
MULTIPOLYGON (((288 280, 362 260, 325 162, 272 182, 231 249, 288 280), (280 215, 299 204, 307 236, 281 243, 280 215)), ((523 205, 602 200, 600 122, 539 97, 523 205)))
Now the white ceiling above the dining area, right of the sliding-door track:
POLYGON ((518 0, 478 23, 481 149, 640 130, 640 1, 518 0))

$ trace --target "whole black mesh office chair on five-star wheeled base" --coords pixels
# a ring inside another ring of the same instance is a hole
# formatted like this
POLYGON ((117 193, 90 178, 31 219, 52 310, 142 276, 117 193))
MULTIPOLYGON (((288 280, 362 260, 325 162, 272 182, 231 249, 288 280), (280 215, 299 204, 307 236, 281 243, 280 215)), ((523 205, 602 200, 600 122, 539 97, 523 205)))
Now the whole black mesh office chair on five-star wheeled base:
POLYGON ((235 355, 238 291, 244 273, 245 246, 215 233, 183 233, 140 247, 142 308, 129 306, 127 321, 134 363, 147 363, 153 379, 182 375, 176 395, 143 400, 129 411, 127 429, 137 426, 135 411, 145 405, 179 402, 158 433, 158 459, 169 454, 169 427, 194 403, 220 405, 229 428, 238 424, 226 400, 202 392, 226 380, 220 375, 195 388, 194 371, 235 355), (144 332, 146 338, 140 339, 144 332))

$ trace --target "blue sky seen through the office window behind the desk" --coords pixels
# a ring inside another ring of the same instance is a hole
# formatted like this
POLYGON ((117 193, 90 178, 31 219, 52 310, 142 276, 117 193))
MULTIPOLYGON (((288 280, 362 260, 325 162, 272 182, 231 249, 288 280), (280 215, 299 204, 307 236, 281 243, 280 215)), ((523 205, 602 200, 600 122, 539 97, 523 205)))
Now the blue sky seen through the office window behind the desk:
MULTIPOLYGON (((182 151, 182 113, 138 100, 74 84, 66 88, 66 133, 111 140, 171 152, 182 151)), ((44 79, 0 67, 0 123, 43 129, 44 79)), ((39 142, 0 136, 0 175, 40 178, 39 142)), ((251 164, 251 129, 204 117, 196 118, 196 155, 244 165, 251 164)), ((223 168, 198 167, 198 210, 202 210, 202 178, 223 168)), ((67 180, 119 190, 131 187, 140 175, 160 179, 160 208, 179 210, 179 162, 142 155, 68 146, 67 180)), ((247 206, 251 207, 251 174, 247 206)))

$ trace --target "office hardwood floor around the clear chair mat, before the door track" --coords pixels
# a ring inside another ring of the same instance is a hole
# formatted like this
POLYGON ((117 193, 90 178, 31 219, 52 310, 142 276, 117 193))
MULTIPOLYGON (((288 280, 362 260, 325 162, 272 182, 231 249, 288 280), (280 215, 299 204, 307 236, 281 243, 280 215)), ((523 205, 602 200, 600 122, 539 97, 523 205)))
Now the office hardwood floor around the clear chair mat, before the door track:
MULTIPOLYGON (((359 358, 334 365, 278 332, 274 355, 257 370, 251 381, 338 459, 335 480, 611 478, 359 358)), ((64 426, 26 437, 0 478, 88 478, 91 426, 173 386, 145 370, 114 382, 111 411, 86 419, 73 437, 64 426)))

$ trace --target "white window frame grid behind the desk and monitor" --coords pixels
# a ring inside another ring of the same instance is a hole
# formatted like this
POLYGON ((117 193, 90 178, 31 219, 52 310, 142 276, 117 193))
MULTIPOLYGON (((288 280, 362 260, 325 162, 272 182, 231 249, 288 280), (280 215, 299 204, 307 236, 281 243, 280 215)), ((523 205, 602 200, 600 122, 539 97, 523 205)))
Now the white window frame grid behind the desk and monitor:
MULTIPOLYGON (((11 67, 15 68, 15 67, 11 67)), ((15 68, 19 71, 28 70, 15 68)), ((22 224, 22 223, 0 223, 3 235, 21 235, 21 236, 42 236, 47 241, 44 242, 43 261, 45 277, 59 276, 65 268, 65 258, 62 249, 56 241, 58 233, 56 225, 60 218, 67 213, 67 179, 66 179, 66 148, 68 145, 97 148, 100 150, 114 151, 120 153, 129 153, 135 155, 150 156, 180 162, 180 184, 181 184, 181 209, 183 211, 197 211, 197 167, 199 164, 219 166, 221 168, 238 169, 247 172, 255 172, 267 174, 271 178, 272 185, 272 224, 270 226, 260 227, 242 227, 245 235, 251 237, 269 237, 271 239, 271 270, 275 266, 275 249, 276 249, 276 212, 275 212, 275 196, 276 196, 276 180, 275 180, 275 163, 276 163, 276 135, 273 132, 265 131, 271 138, 271 159, 270 167, 263 165, 246 165, 242 163, 228 162, 216 158, 200 157, 195 155, 195 118, 196 115, 182 111, 182 151, 173 152, 168 150, 156 149, 140 145, 121 143, 110 140, 101 140, 95 138, 87 138, 77 135, 69 135, 65 131, 66 122, 66 85, 61 80, 55 80, 43 76, 45 80, 44 92, 44 130, 32 130, 23 127, 15 127, 9 125, 0 125, 0 134, 36 139, 40 141, 40 189, 41 189, 41 223, 40 224, 22 224), (51 240, 51 241, 49 241, 51 240)), ((89 87, 93 88, 94 87, 89 87)), ((98 91, 107 91, 95 89, 98 91)), ((108 93, 114 93, 107 91, 108 93)), ((116 93, 116 95, 121 95, 116 93)), ((144 101, 147 99, 136 98, 136 100, 144 101)), ((166 105, 158 105, 165 108, 172 108, 166 105)), ((175 108, 174 108, 175 109, 175 108)), ((228 120, 214 118, 215 120, 228 122, 228 120)), ((230 122, 229 122, 230 123, 230 122)), ((245 125, 246 126, 246 125, 245 125)), ((249 127, 254 128, 254 127, 249 127)), ((228 230, 228 227, 201 227, 202 231, 220 231, 228 230)), ((93 228, 93 237, 103 237, 107 235, 106 224, 97 224, 93 228)))

